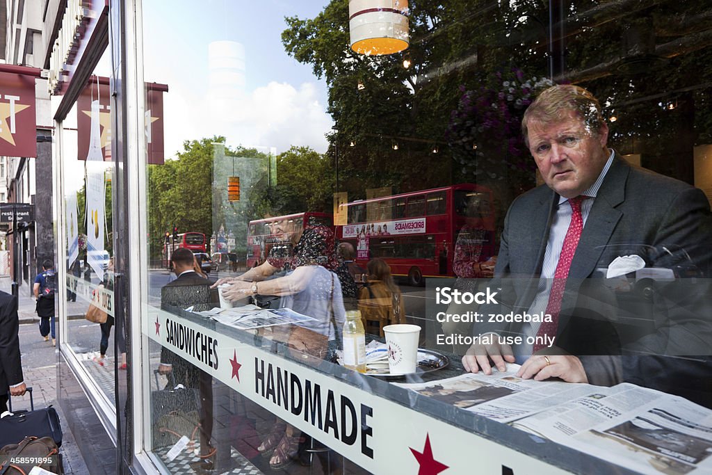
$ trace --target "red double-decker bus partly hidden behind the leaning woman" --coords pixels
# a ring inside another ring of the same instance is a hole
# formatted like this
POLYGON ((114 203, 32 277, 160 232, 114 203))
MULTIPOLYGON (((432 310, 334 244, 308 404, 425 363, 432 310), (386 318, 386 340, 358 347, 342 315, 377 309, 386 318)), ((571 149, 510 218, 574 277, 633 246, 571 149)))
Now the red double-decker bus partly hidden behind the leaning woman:
POLYGON ((289 246, 292 234, 305 226, 328 226, 333 231, 333 216, 305 212, 250 221, 247 227, 247 266, 263 263, 273 246, 289 246))

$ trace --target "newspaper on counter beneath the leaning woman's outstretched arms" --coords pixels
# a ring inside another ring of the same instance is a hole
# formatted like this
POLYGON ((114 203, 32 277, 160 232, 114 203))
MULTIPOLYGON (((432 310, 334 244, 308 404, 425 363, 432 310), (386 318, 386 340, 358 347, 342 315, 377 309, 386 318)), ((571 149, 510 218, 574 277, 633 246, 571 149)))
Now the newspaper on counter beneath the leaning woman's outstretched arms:
POLYGON ((197 313, 239 330, 251 330, 253 328, 315 320, 307 315, 297 313, 291 308, 265 309, 254 305, 236 308, 211 308, 197 313))

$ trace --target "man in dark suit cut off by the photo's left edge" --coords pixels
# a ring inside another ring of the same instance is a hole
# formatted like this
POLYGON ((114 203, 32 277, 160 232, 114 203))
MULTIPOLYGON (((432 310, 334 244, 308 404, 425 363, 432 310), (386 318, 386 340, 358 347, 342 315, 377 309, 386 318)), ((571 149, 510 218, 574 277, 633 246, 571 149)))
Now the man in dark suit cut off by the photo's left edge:
POLYGON ((18 337, 17 297, 0 291, 0 414, 7 410, 8 392, 25 394, 18 337))

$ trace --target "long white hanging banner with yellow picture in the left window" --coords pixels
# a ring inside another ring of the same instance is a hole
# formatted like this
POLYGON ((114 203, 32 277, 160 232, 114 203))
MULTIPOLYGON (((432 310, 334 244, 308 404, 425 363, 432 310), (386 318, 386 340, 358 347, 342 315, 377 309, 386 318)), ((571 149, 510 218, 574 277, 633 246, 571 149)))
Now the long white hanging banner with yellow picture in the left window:
POLYGON ((87 162, 87 262, 104 278, 104 207, 106 199, 104 164, 87 162))

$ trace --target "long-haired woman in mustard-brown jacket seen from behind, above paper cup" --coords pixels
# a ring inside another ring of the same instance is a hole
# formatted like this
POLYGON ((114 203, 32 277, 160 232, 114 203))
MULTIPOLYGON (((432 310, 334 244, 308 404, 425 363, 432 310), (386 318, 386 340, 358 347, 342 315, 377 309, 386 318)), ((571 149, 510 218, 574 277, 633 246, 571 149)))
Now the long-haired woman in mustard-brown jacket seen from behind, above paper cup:
MULTIPOLYGON (((367 282, 359 291, 358 308, 365 320, 366 331, 369 322, 379 323, 378 334, 383 336, 383 327, 392 323, 406 323, 405 307, 400 288, 394 283, 391 268, 383 259, 368 261, 367 282)), ((372 333, 372 332, 369 332, 372 333)))

